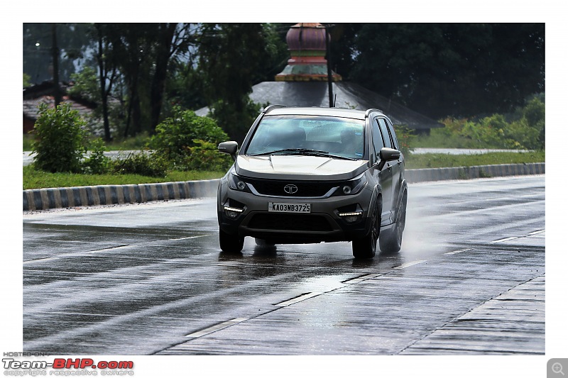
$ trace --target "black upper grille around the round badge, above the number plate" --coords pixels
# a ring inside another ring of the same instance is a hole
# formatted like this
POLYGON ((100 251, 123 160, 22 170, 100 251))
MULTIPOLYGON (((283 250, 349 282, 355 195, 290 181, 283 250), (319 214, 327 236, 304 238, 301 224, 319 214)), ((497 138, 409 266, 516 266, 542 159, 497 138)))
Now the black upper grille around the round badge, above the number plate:
POLYGON ((339 186, 337 182, 318 182, 318 181, 284 181, 284 180, 265 180, 265 179, 246 179, 252 184, 254 189, 266 196, 288 196, 288 197, 321 197, 329 189, 339 186), (295 185, 295 193, 286 193, 286 185, 295 185))

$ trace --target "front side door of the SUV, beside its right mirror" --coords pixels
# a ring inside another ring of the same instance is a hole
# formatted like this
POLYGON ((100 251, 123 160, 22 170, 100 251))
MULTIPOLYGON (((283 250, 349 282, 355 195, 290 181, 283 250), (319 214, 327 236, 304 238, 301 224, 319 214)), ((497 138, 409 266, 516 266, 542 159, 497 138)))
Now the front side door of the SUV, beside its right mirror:
POLYGON ((388 162, 383 167, 383 169, 381 169, 381 171, 378 170, 378 162, 379 160, 381 160, 381 157, 379 157, 378 154, 381 151, 381 148, 386 147, 379 126, 379 119, 381 118, 374 118, 371 125, 371 134, 372 134, 373 149, 374 149, 373 162, 376 164, 374 166, 375 169, 373 169, 373 176, 381 184, 381 191, 383 196, 383 212, 381 213, 381 225, 385 226, 392 223, 391 204, 393 203, 393 176, 392 176, 392 169, 388 168, 388 162))

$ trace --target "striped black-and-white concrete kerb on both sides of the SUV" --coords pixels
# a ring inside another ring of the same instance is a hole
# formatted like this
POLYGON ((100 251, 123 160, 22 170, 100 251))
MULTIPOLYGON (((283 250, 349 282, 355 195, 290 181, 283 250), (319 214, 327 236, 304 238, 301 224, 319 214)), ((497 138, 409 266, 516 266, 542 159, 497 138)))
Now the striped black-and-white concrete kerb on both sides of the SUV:
MULTIPOLYGON (((545 174, 545 163, 407 169, 405 171, 405 178, 409 184, 412 184, 427 181, 521 176, 528 174, 545 174)), ((212 179, 164 182, 158 184, 28 189, 23 191, 23 211, 203 198, 215 196, 217 194, 218 185, 219 179, 212 179)))

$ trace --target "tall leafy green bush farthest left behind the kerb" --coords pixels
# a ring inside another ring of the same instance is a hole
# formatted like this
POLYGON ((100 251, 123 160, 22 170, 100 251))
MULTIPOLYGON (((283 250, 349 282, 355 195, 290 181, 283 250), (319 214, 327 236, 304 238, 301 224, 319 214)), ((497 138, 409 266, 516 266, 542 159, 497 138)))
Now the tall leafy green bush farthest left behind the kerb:
POLYGON ((57 109, 40 104, 32 145, 35 167, 48 172, 81 172, 81 160, 87 151, 84 126, 79 112, 70 104, 62 103, 57 109))

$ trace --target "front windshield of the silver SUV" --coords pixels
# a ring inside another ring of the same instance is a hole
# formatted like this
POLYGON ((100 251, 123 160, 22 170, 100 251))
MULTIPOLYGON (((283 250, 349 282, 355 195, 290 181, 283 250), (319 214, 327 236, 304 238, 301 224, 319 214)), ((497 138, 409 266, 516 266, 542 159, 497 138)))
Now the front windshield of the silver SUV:
POLYGON ((246 155, 273 153, 362 159, 364 121, 328 116, 265 116, 246 155))

